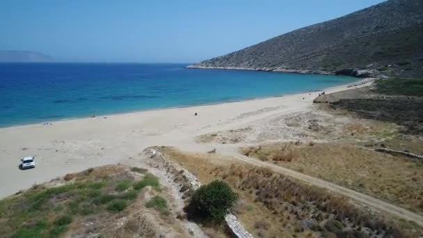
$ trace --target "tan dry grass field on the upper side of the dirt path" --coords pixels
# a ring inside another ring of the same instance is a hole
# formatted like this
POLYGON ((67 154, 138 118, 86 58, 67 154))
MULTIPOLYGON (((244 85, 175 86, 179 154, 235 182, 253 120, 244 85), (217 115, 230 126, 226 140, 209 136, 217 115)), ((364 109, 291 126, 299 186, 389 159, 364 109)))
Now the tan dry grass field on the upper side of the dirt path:
POLYGON ((242 148, 241 152, 423 212, 421 161, 325 143, 314 146, 294 143, 262 145, 242 148))

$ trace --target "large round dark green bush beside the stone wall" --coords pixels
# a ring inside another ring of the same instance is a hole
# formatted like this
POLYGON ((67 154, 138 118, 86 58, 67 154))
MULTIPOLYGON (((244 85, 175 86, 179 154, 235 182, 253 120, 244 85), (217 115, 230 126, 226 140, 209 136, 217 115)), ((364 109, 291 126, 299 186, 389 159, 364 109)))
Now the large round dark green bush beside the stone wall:
POLYGON ((221 223, 237 199, 237 193, 228 184, 215 180, 193 193, 186 212, 189 219, 221 223))

